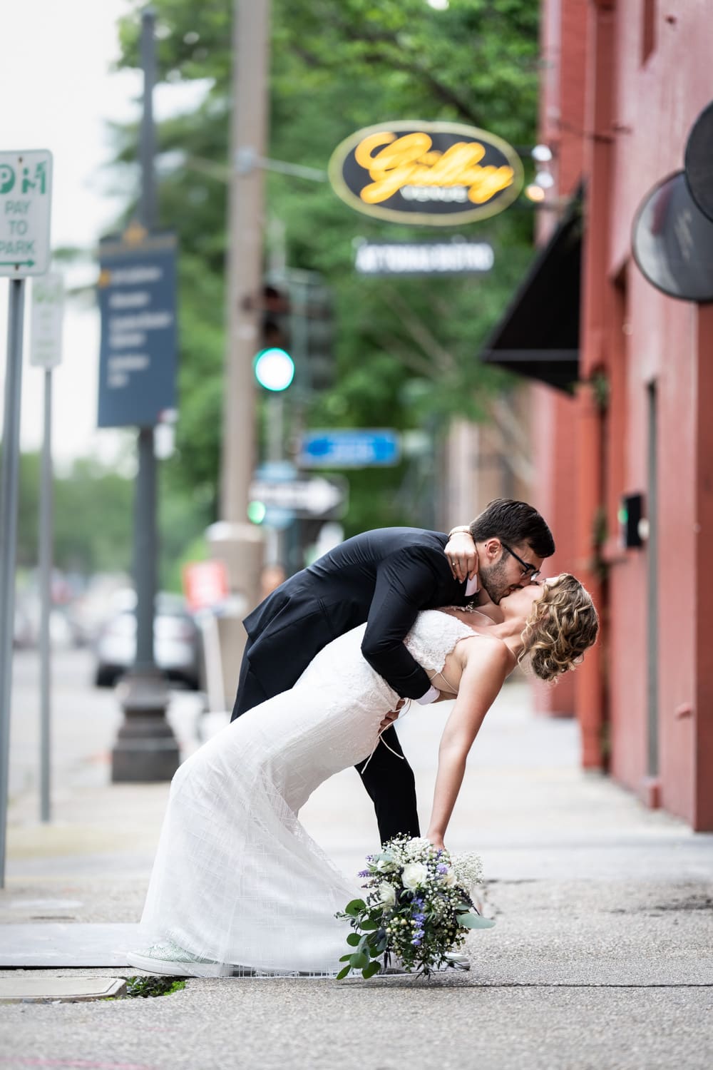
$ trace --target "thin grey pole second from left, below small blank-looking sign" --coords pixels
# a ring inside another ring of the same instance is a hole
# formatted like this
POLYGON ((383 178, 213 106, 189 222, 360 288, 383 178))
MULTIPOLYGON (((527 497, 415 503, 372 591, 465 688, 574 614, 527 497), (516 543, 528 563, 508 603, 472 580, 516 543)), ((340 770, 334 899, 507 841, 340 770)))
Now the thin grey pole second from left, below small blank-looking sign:
POLYGON ((45 369, 45 434, 40 492, 40 820, 50 820, 50 616, 52 612, 52 371, 45 369))

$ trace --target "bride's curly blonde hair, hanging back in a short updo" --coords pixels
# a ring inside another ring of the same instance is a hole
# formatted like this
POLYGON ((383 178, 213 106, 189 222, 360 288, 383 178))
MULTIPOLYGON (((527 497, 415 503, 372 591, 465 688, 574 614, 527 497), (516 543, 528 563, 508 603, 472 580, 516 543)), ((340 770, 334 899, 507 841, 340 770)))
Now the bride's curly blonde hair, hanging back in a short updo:
POLYGON ((557 679, 580 663, 598 631, 599 616, 591 595, 574 576, 562 572, 544 583, 542 597, 532 602, 517 660, 529 657, 536 676, 557 679))

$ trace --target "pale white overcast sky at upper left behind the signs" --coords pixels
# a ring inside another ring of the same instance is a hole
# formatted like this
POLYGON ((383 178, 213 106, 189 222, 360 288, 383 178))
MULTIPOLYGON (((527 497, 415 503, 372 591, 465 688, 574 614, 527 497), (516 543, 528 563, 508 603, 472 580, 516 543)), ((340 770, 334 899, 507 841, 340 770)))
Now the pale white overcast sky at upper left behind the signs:
MULTIPOLYGON (((0 150, 50 149, 55 157, 52 246, 93 248, 111 228, 121 201, 108 194, 103 171, 111 159, 109 121, 136 119, 139 72, 112 73, 119 54, 117 19, 128 0, 16 0, 2 4, 0 150)), ((160 87, 156 113, 195 98, 189 87, 160 87)), ((94 269, 73 269, 69 285, 88 282, 94 269)), ((26 287, 27 304, 31 284, 26 287)), ((7 281, 0 279, 0 383, 4 389, 7 281)), ((96 430, 99 323, 95 309, 65 311, 63 363, 53 377, 53 447, 61 463, 92 454, 115 456, 118 434, 96 430)), ((21 445, 40 448, 43 371, 22 371, 21 445)), ((0 423, 2 406, 0 406, 0 423)))

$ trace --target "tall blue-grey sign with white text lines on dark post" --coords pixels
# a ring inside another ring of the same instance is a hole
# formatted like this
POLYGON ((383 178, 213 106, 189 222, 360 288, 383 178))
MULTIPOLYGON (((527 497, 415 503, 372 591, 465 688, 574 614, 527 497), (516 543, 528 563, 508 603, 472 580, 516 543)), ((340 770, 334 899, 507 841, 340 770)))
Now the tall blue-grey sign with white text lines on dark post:
POLYGON ((99 427, 153 427, 175 409, 175 289, 174 234, 102 242, 99 427))

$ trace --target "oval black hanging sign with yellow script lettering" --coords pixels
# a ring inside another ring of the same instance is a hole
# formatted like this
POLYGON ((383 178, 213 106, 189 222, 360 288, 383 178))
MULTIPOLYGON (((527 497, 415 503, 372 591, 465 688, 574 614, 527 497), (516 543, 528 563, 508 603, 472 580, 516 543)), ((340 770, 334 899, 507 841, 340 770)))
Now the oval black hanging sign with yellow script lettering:
POLYGON ((403 121, 368 126, 329 160, 338 197, 391 223, 452 227, 495 215, 523 185, 506 141, 461 123, 403 121))

